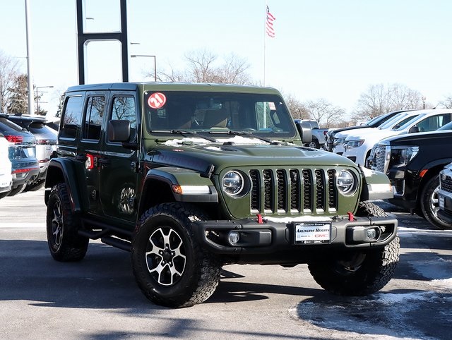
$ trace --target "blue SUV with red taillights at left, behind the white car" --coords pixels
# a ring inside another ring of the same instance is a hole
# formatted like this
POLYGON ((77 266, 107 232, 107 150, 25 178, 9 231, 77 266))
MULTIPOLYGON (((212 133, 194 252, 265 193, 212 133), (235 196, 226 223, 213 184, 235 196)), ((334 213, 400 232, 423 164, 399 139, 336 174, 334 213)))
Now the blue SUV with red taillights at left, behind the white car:
POLYGON ((0 132, 10 143, 8 148, 13 174, 10 196, 21 193, 28 183, 36 181, 40 174, 37 162, 36 140, 32 133, 8 120, 8 114, 0 114, 0 132))

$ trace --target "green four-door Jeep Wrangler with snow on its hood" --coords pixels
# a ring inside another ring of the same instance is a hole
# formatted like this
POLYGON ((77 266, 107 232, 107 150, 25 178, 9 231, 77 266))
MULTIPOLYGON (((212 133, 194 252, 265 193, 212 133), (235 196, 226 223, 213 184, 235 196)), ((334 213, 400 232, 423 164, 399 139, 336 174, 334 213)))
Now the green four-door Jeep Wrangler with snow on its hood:
POLYGON ((374 293, 400 250, 397 220, 369 202, 392 197, 388 178, 310 139, 268 87, 70 87, 45 182, 50 253, 127 250, 144 295, 170 307, 202 303, 233 263, 307 263, 323 289, 374 293))

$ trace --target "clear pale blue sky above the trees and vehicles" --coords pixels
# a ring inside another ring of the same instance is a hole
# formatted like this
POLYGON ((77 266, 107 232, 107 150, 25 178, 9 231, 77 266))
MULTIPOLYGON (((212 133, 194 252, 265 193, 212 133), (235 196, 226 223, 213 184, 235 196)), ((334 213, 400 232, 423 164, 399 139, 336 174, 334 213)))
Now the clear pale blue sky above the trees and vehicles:
MULTIPOLYGON (((33 83, 40 107, 57 110, 78 83, 76 1, 29 0, 33 83)), ((398 83, 435 105, 452 94, 450 0, 129 0, 129 54, 155 55, 157 71, 182 69, 184 54, 206 49, 246 59, 256 82, 300 101, 325 98, 352 111, 369 85, 398 83), (265 38, 265 5, 275 38, 265 38), (265 49, 264 49, 265 46, 265 49), (265 55, 265 59, 264 59, 265 55), (265 60, 265 71, 264 71, 265 60)), ((89 31, 119 30, 119 0, 85 0, 89 31)), ((25 1, 0 0, 0 49, 27 71, 25 1)), ((88 44, 87 83, 121 80, 119 44, 88 44), (100 54, 102 52, 102 54, 100 54), (100 57, 102 55, 102 57, 100 57)), ((153 58, 129 59, 129 80, 153 58)))

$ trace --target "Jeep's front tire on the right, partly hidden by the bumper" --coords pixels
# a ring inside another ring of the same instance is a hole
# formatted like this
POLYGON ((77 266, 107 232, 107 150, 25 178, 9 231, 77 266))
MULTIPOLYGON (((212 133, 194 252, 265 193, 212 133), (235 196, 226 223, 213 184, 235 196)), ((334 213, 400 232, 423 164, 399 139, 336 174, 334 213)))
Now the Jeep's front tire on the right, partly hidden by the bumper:
MULTIPOLYGON (((386 217, 381 207, 361 202, 359 217, 386 217)), ((326 291, 343 296, 364 296, 382 289, 396 269, 400 253, 398 236, 384 248, 330 254, 308 264, 314 280, 326 291)))

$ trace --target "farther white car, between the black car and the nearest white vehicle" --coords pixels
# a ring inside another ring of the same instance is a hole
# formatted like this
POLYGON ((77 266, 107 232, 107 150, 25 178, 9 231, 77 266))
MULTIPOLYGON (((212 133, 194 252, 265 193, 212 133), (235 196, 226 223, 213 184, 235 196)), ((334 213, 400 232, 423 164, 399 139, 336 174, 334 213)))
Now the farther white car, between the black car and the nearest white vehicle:
POLYGON ((406 123, 410 117, 418 116, 420 111, 404 111, 400 114, 396 114, 391 119, 388 119, 386 123, 381 124, 378 128, 359 128, 357 130, 345 130, 340 133, 336 133, 333 141, 333 152, 336 154, 343 154, 345 152, 345 140, 349 135, 366 135, 367 133, 374 133, 378 130, 386 130, 396 128, 396 126, 402 126, 406 123))

